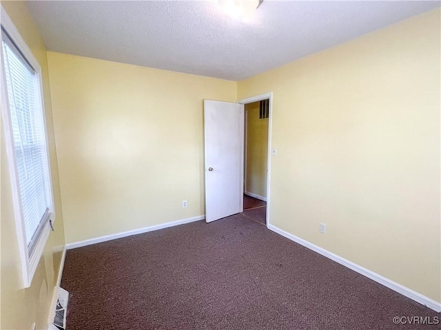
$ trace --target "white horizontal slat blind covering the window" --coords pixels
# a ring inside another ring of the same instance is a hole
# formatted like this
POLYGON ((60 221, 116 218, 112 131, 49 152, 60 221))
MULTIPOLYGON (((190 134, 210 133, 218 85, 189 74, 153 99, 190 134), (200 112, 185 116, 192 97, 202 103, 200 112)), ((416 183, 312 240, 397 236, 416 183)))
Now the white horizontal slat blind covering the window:
POLYGON ((4 75, 28 254, 50 221, 52 196, 39 76, 2 28, 4 75))

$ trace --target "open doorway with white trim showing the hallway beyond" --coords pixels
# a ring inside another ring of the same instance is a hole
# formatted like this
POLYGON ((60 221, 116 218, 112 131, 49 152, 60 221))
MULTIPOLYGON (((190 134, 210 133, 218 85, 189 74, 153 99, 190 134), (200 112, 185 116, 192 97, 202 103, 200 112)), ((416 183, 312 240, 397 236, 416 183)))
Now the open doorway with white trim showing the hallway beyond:
POLYGON ((268 225, 272 93, 238 103, 245 106, 243 214, 268 225))

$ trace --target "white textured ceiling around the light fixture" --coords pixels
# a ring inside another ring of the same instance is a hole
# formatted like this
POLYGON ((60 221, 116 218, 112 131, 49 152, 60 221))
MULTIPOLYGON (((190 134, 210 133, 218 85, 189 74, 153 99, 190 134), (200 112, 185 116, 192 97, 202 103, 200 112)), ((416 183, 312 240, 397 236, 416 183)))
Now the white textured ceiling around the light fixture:
POLYGON ((26 1, 48 50, 229 80, 440 6, 440 1, 271 1, 247 21, 212 1, 26 1))

